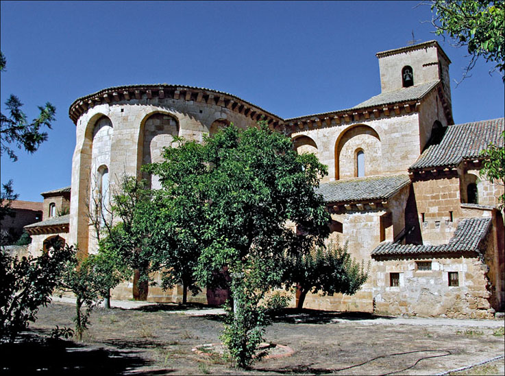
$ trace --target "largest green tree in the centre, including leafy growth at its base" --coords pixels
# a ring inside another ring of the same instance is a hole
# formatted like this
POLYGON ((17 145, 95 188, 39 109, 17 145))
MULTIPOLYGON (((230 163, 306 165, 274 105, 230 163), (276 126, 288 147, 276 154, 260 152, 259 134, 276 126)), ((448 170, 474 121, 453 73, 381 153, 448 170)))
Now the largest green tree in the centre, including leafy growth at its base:
POLYGON ((151 169, 169 197, 190 202, 188 215, 197 213, 187 223, 200 221, 195 270, 200 285, 214 283, 223 271, 230 276, 233 309, 225 335, 231 337, 223 341, 242 368, 249 368, 262 340, 261 301, 282 283, 284 252, 323 244, 330 220, 315 193, 326 167, 314 154, 298 155, 290 139, 266 124, 258 128, 240 132, 229 126, 203 145, 182 142, 151 169), (188 163, 186 169, 177 166, 180 159, 188 163), (181 181, 186 189, 178 189, 181 181), (295 226, 304 228, 303 237, 295 226))

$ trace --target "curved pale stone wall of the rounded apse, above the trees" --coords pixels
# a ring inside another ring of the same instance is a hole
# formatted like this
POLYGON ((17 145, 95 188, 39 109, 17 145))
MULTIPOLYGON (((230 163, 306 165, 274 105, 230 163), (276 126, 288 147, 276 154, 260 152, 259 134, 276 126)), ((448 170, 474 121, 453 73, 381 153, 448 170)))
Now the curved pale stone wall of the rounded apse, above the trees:
MULTIPOLYGON (((132 98, 128 101, 99 104, 86 110, 77 120, 77 141, 72 163, 73 200, 69 239, 71 244, 78 243, 82 252, 88 252, 90 242, 95 243, 88 231, 86 207, 90 176, 94 174, 95 167, 99 167, 101 163, 107 165, 111 191, 118 186, 122 174, 136 176, 144 163, 145 132, 148 134, 147 139, 151 139, 149 141, 149 150, 153 149, 151 153, 159 154, 163 146, 169 146, 171 143, 171 139, 158 136, 156 133, 160 135, 166 133, 164 129, 157 129, 162 124, 155 124, 156 120, 164 117, 169 117, 178 124, 177 132, 180 137, 199 142, 203 141, 204 133, 208 134, 212 124, 217 120, 234 123, 240 128, 256 126, 256 119, 231 110, 224 104, 219 106, 215 102, 186 101, 182 98, 147 98, 146 94, 141 99, 132 98), (151 118, 153 114, 161 115, 151 118), (97 121, 104 121, 103 119, 108 119, 112 126, 106 128, 109 132, 107 135, 103 134, 102 139, 100 132, 103 125, 97 121), (167 145, 163 145, 165 142, 167 145)), ((173 124, 169 124, 169 127, 173 128, 173 124)))

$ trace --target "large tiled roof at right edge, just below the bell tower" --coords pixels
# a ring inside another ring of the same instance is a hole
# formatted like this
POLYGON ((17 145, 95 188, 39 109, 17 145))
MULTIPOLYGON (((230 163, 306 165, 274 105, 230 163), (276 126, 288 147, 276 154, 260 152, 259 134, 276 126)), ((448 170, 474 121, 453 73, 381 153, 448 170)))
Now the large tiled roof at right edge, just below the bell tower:
POLYGON ((489 143, 503 145, 504 118, 447 126, 442 141, 430 145, 409 169, 455 166, 465 158, 477 158, 489 143))

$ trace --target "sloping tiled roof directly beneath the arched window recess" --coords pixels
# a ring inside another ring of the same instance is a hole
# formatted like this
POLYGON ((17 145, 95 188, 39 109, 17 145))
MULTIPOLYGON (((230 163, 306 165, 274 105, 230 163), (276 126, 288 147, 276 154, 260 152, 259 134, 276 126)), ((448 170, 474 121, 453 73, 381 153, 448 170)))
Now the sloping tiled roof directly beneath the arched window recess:
POLYGON ((362 200, 386 200, 410 184, 408 175, 367 176, 323 183, 317 189, 325 202, 353 202, 362 200))

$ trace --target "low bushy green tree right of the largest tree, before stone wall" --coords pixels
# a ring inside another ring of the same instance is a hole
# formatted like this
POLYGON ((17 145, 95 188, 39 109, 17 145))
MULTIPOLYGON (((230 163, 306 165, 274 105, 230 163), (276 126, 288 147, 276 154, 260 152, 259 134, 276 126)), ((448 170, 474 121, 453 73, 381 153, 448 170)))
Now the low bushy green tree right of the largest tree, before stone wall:
POLYGON ((363 263, 354 261, 347 252, 347 244, 341 247, 330 243, 308 251, 286 255, 284 281, 286 285, 297 285, 299 299, 297 308, 304 306, 308 292, 356 293, 367 281, 368 271, 363 263))

